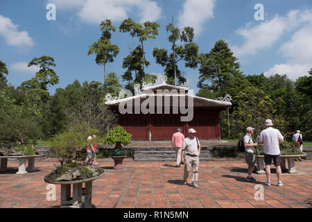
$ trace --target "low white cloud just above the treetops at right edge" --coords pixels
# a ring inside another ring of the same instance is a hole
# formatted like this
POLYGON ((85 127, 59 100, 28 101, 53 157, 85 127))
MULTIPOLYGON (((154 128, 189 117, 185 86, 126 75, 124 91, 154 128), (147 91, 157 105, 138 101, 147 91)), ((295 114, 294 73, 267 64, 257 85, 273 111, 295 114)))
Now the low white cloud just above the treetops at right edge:
POLYGON ((265 76, 273 76, 275 74, 287 75, 291 80, 296 80, 300 76, 306 76, 312 68, 312 63, 304 64, 277 64, 264 73, 265 76))

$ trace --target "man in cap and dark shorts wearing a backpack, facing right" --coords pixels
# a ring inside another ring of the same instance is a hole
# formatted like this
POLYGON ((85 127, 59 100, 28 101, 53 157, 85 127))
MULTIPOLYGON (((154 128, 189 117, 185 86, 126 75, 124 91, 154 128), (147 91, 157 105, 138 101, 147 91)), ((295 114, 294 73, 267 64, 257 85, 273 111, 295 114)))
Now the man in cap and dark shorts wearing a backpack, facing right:
POLYGON ((243 139, 244 146, 245 146, 245 156, 246 156, 246 162, 248 164, 248 176, 246 180, 256 182, 256 179, 253 178, 252 172, 254 171, 254 168, 257 167, 256 164, 256 158, 254 157, 254 146, 258 146, 257 143, 254 144, 252 141, 252 134, 254 134, 254 128, 248 127, 246 128, 246 135, 243 139))

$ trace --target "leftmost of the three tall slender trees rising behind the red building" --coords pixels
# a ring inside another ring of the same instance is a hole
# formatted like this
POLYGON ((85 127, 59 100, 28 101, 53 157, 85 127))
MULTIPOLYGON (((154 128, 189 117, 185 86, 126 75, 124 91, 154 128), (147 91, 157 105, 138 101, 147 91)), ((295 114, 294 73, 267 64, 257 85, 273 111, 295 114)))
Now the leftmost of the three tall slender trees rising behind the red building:
POLYGON ((116 44, 112 44, 110 39, 112 38, 111 31, 116 31, 116 27, 112 26, 110 19, 106 19, 105 22, 101 22, 102 36, 97 41, 89 46, 88 55, 96 54, 96 64, 104 66, 104 87, 106 78, 106 63, 114 62, 114 58, 119 53, 119 47, 116 44))

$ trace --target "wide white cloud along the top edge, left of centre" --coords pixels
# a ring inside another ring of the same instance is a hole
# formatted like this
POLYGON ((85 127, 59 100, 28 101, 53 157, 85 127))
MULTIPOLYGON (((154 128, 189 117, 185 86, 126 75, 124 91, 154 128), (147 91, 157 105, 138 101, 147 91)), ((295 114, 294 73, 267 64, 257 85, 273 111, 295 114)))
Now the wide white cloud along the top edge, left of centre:
POLYGON ((151 0, 53 0, 61 10, 78 10, 83 22, 99 24, 105 19, 121 22, 129 17, 129 12, 138 15, 139 22, 155 22, 162 17, 162 9, 151 0))

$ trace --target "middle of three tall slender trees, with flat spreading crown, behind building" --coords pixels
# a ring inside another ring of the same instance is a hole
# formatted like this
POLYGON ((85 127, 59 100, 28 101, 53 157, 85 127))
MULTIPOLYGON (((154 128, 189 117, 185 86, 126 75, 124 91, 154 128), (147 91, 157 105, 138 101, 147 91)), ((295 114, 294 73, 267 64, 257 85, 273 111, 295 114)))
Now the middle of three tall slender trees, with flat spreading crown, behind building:
POLYGON ((125 19, 119 26, 119 31, 123 33, 130 33, 132 37, 139 37, 142 50, 141 66, 145 76, 146 60, 144 56, 144 41, 148 39, 156 39, 158 35, 159 24, 157 22, 144 22, 144 24, 135 23, 131 18, 125 19))

